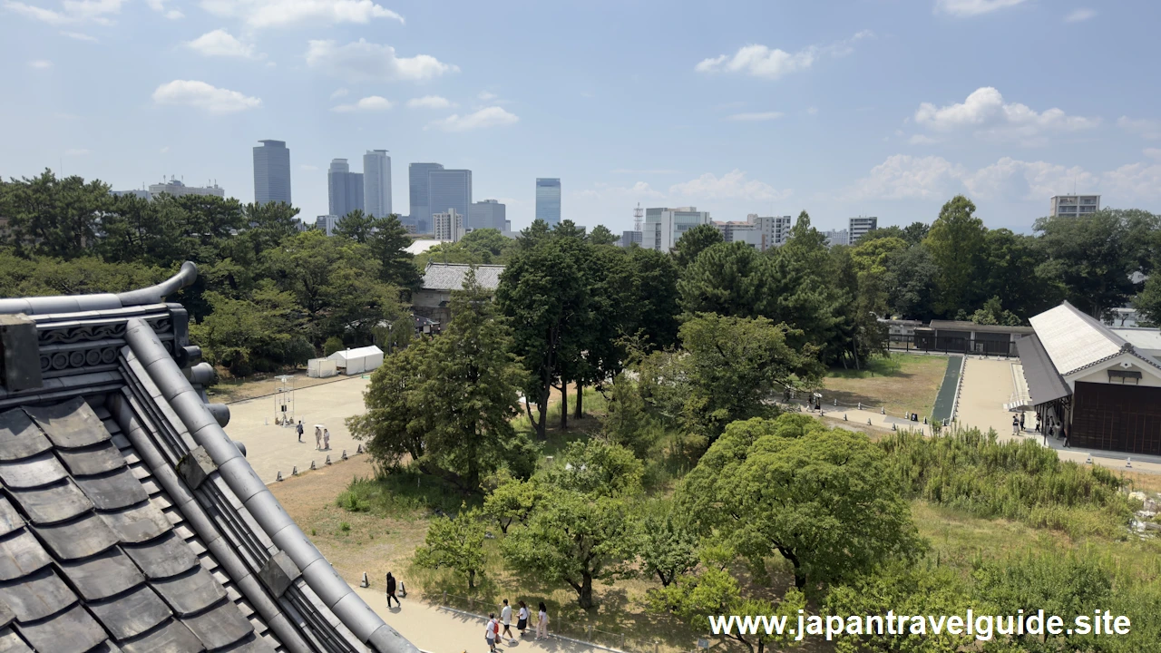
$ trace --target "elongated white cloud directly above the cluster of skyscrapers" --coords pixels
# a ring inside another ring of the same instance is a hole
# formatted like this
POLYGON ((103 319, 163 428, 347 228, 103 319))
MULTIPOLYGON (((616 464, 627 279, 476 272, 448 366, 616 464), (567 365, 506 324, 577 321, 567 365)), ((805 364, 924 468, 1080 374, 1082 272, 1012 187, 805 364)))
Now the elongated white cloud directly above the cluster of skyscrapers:
POLYGON ((395 48, 362 38, 346 45, 311 41, 307 65, 349 81, 423 81, 460 71, 428 55, 397 57, 395 48))

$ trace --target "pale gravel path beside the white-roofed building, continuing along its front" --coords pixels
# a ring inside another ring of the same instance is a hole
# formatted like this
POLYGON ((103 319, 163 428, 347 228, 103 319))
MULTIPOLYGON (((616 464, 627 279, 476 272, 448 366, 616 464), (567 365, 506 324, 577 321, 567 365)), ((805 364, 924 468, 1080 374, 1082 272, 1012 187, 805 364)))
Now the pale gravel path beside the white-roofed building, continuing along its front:
MULTIPOLYGON (((956 421, 964 426, 975 426, 981 431, 995 429, 1001 442, 1012 439, 1032 439, 1045 446, 1057 450, 1061 460, 1073 460, 1087 464, 1089 457, 1094 465, 1101 465, 1110 469, 1125 469, 1128 454, 1084 449, 1063 449, 1063 443, 1058 439, 1047 438, 1033 432, 1036 426, 1036 412, 1027 412, 1024 417, 1026 431, 1019 435, 1012 433, 1012 412, 1004 410, 1004 404, 1014 401, 1017 394, 1016 381, 1014 380, 1012 365, 1019 364, 1018 359, 980 359, 968 357, 964 368, 964 385, 960 388, 959 409, 956 412, 956 421)), ((1161 474, 1161 457, 1142 455, 1132 457, 1132 471, 1148 474, 1161 474)))

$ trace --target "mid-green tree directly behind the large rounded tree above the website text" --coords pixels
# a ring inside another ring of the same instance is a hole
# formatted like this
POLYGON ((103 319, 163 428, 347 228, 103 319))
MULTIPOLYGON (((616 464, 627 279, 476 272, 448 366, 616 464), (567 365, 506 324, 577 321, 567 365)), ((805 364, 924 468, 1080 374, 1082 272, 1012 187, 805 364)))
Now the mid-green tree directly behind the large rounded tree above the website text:
POLYGON ((788 332, 763 317, 698 314, 683 324, 686 428, 713 442, 730 422, 771 414, 765 400, 785 387, 814 383, 822 373, 816 350, 795 351, 788 332))

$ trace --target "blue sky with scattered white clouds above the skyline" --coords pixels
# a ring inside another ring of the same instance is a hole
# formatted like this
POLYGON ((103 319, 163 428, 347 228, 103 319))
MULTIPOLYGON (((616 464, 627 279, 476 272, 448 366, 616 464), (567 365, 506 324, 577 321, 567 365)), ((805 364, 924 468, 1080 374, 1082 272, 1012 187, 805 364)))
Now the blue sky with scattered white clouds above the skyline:
POLYGON ((930 222, 966 193, 1030 229, 1055 193, 1161 210, 1161 2, 0 0, 0 174, 115 188, 216 179, 291 150, 303 215, 368 149, 474 171, 476 200, 628 229, 807 209, 930 222))

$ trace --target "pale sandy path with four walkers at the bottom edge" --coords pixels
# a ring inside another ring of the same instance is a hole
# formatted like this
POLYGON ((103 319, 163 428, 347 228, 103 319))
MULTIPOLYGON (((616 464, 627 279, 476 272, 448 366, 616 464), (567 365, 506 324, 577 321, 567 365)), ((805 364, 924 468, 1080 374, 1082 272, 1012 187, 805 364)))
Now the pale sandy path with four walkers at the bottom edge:
MULTIPOLYGON (((391 624, 391 627, 399 631, 399 634, 408 638, 419 650, 428 653, 488 653, 488 645, 484 643, 484 624, 486 619, 476 618, 463 612, 445 610, 435 605, 428 605, 418 598, 403 598, 401 608, 388 610, 387 601, 382 589, 356 587, 359 596, 372 607, 383 620, 391 624)), ((497 616, 499 609, 496 609, 497 616)), ((515 615, 512 615, 515 632, 515 615)), ((549 617, 549 632, 551 632, 551 618, 549 617)), ((500 651, 524 651, 550 653, 597 653, 598 648, 584 646, 575 641, 568 641, 551 637, 549 639, 536 640, 533 631, 522 639, 517 638, 517 643, 509 646, 502 643, 497 646, 500 651)), ((607 652, 606 652, 607 653, 607 652)))

